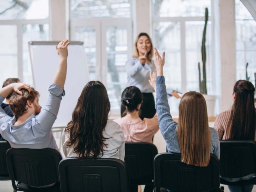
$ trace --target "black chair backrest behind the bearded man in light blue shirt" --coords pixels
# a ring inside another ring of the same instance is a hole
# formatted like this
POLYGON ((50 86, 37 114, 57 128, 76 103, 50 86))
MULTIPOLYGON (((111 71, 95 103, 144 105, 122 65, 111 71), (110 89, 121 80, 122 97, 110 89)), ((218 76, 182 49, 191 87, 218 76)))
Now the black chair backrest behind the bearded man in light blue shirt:
POLYGON ((55 149, 7 150, 6 161, 14 191, 60 192, 58 166, 61 159, 55 149), (51 187, 36 188, 52 183, 55 184, 51 187))

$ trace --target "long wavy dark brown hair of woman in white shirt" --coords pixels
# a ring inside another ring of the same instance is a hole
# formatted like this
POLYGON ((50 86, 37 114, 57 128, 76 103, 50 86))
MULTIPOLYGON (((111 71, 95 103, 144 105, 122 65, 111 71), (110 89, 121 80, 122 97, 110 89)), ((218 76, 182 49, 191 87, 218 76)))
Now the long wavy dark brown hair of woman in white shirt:
POLYGON ((103 155, 103 137, 106 127, 110 101, 106 87, 100 81, 88 82, 72 114, 72 120, 65 128, 69 132, 67 147, 74 148, 80 158, 98 158, 103 155))

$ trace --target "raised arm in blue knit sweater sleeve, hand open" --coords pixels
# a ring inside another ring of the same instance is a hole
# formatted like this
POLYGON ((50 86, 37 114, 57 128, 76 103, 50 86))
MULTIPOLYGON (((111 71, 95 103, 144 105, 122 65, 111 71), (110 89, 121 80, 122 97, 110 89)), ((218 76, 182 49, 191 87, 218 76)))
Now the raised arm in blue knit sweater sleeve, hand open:
POLYGON ((170 107, 167 100, 165 79, 163 76, 164 57, 162 58, 155 49, 155 66, 156 66, 156 112, 158 113, 159 127, 165 140, 175 137, 177 123, 172 119, 170 107))

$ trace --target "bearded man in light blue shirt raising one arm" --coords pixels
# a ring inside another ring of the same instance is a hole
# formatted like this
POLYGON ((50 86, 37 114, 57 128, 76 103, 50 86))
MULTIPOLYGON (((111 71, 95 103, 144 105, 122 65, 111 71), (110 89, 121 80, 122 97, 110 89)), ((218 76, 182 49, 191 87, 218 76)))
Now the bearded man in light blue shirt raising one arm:
POLYGON ((65 95, 63 89, 66 79, 68 40, 56 46, 60 61, 53 84, 49 87, 49 97, 41 111, 38 104, 39 93, 27 84, 12 83, 0 90, 0 102, 9 94, 10 108, 14 118, 8 116, 0 107, 0 134, 12 148, 57 149, 51 128, 57 118, 60 101, 65 95))

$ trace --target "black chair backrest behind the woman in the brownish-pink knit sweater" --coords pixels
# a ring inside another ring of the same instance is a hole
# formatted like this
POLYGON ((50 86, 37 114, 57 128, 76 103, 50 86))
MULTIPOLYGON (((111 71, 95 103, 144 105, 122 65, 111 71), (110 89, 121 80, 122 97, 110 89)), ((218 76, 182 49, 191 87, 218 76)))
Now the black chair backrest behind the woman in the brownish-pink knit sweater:
POLYGON ((243 177, 256 172, 256 142, 249 140, 220 141, 220 175, 243 177))

